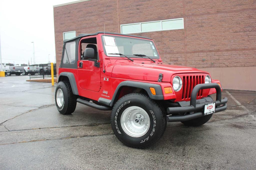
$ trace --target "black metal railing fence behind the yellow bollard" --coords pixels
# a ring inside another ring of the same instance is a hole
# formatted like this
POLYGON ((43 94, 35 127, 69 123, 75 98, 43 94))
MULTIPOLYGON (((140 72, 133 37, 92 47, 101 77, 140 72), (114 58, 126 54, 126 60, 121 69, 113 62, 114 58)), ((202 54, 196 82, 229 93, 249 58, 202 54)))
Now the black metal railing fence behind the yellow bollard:
MULTIPOLYGON (((56 63, 53 63, 53 74, 56 77, 56 63)), ((51 77, 51 64, 34 64, 29 66, 29 79, 51 77)))

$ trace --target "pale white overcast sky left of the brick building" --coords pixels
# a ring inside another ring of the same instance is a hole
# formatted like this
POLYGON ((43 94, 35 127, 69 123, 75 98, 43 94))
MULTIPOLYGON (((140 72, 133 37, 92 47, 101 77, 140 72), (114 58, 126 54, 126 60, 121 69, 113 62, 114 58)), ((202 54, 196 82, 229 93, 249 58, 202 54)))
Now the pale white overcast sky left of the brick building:
POLYGON ((55 62, 53 5, 74 0, 1 0, 0 37, 3 63, 55 62), (32 61, 33 62, 33 61, 32 61))

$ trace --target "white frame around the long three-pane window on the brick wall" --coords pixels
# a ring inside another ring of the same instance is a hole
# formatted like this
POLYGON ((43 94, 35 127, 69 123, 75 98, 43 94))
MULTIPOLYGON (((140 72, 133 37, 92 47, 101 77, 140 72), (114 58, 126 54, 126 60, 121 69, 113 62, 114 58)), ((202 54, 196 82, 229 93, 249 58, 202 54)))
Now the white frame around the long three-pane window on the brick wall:
POLYGON ((147 22, 136 22, 136 23, 129 23, 129 24, 121 24, 121 25, 120 25, 120 32, 121 32, 122 34, 133 34, 133 33, 143 33, 143 32, 155 32, 155 31, 141 31, 141 24, 144 24, 144 23, 152 23, 152 22, 160 22, 160 30, 156 30, 156 31, 167 31, 167 30, 179 30, 179 29, 184 29, 184 18, 174 18, 174 19, 166 19, 166 20, 157 20, 157 21, 147 21, 147 22), (163 22, 163 21, 173 21, 173 20, 182 20, 182 22, 183 22, 183 27, 181 27, 181 28, 176 28, 176 29, 165 29, 165 30, 163 30, 162 22, 163 22), (123 31, 122 31, 122 26, 134 25, 134 24, 140 24, 140 31, 139 31, 139 32, 123 33, 123 31))

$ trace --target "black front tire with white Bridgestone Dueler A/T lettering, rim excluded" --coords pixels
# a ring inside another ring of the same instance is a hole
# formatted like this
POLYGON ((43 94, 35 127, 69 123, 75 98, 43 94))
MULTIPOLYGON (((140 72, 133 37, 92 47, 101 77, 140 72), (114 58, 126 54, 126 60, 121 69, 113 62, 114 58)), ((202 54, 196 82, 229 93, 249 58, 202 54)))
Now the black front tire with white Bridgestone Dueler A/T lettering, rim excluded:
POLYGON ((166 128, 166 119, 158 104, 148 96, 140 93, 132 93, 120 98, 111 112, 111 125, 115 136, 124 145, 143 149, 157 142, 166 128), (126 134, 121 126, 121 115, 123 111, 131 106, 144 109, 150 117, 150 127, 147 133, 141 137, 132 137, 126 134))

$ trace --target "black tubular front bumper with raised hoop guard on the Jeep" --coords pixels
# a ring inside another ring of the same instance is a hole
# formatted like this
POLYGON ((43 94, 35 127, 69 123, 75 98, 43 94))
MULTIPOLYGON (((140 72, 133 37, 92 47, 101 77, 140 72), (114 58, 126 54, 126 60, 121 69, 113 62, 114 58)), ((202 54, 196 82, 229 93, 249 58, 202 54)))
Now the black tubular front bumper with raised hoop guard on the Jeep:
POLYGON ((224 97, 221 99, 221 88, 217 83, 208 83, 208 84, 198 84, 196 85, 191 93, 190 102, 183 101, 179 102, 179 107, 169 107, 167 108, 167 113, 172 114, 166 116, 167 122, 183 122, 197 117, 204 116, 204 107, 205 104, 215 103, 215 113, 227 109, 228 98, 224 97), (197 93, 200 89, 215 88, 216 89, 216 101, 212 100, 211 97, 205 97, 199 100, 196 100, 197 93), (222 106, 220 106, 222 105, 222 106), (186 114, 185 114, 186 113, 186 114), (179 114, 179 115, 173 115, 179 114))

